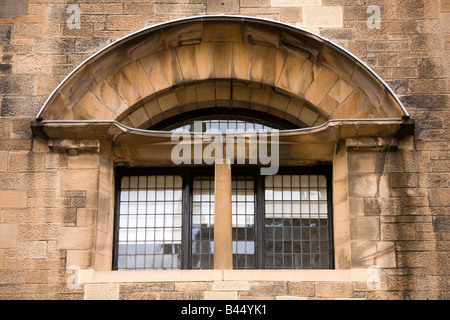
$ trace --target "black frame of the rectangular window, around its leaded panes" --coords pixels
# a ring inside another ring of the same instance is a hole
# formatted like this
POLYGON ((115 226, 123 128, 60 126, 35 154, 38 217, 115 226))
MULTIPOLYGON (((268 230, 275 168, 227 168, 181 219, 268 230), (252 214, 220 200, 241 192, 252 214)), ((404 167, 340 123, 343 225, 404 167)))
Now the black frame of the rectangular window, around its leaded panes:
MULTIPOLYGON (((123 176, 133 175, 180 175, 182 176, 182 240, 181 240, 181 270, 192 269, 192 203, 193 203, 193 178, 196 176, 214 176, 214 166, 178 166, 178 167, 115 167, 115 199, 114 199, 114 231, 113 231, 113 259, 112 270, 118 269, 119 251, 119 214, 120 214, 120 190, 123 176), (188 208, 188 210, 186 210, 188 208)), ((255 196, 255 252, 256 267, 246 270, 268 270, 265 269, 264 250, 264 217, 265 217, 265 177, 260 174, 259 166, 234 165, 231 168, 232 176, 254 177, 255 196)), ((334 270, 334 238, 333 238, 333 201, 332 201, 332 167, 330 164, 316 166, 285 166, 280 167, 277 175, 324 175, 327 185, 327 209, 328 209, 328 248, 329 268, 316 270, 334 270)), ((234 258, 233 258, 234 260, 234 258)), ((312 269, 312 268, 311 268, 312 269)), ((200 269, 207 270, 207 269, 200 269)), ((209 269, 210 270, 210 269, 209 269)), ((238 269, 236 270, 243 270, 238 269)), ((283 269, 274 269, 283 270, 283 269)), ((284 269, 284 270, 306 270, 306 269, 284 269)))

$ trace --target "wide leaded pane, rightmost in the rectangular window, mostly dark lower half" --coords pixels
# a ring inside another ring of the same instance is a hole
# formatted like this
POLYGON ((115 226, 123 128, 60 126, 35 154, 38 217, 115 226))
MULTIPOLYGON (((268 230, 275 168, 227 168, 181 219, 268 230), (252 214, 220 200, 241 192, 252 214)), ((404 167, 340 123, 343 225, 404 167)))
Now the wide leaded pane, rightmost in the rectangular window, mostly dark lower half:
POLYGON ((267 176, 264 194, 265 268, 330 268, 326 177, 267 176))

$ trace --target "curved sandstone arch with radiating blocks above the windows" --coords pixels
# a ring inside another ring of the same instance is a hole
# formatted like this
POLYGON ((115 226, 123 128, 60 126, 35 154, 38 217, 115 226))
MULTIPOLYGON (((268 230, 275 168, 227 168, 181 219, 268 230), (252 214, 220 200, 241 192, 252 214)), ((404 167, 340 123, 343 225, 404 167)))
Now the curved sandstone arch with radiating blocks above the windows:
POLYGON ((376 74, 326 39, 273 21, 205 16, 144 29, 95 54, 37 118, 146 129, 206 105, 265 108, 301 127, 408 117, 376 74))

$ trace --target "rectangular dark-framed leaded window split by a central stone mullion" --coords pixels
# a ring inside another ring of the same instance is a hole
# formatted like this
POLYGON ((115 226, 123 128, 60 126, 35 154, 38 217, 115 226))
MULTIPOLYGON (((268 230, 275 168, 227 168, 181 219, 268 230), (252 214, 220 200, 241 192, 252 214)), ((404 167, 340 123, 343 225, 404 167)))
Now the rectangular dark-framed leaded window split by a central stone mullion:
MULTIPOLYGON (((235 269, 333 267, 330 170, 232 169, 235 269)), ((114 268, 211 269, 214 176, 207 168, 117 168, 114 268)))

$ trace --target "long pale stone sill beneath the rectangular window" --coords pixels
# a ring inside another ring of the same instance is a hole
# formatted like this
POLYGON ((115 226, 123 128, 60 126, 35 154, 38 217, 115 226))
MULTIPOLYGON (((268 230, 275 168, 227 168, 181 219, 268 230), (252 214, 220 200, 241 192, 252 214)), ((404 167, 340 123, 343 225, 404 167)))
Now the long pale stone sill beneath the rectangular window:
POLYGON ((80 283, 133 283, 183 281, 310 281, 365 282, 366 269, 352 270, 80 270, 80 283))

